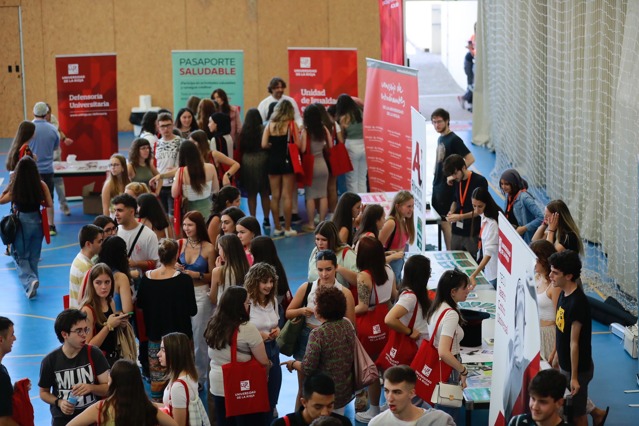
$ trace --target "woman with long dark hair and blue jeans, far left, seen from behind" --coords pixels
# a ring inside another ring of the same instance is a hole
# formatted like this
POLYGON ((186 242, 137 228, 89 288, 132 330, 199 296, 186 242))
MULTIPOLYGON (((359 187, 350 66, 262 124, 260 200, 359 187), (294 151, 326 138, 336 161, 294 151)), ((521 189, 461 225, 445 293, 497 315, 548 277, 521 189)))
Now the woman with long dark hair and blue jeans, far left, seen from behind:
POLYGON ((28 155, 20 159, 0 197, 0 204, 11 201, 20 219, 20 235, 11 244, 11 255, 26 296, 32 299, 40 285, 38 262, 44 237, 40 206, 53 207, 53 200, 49 187, 40 180, 36 162, 28 155))

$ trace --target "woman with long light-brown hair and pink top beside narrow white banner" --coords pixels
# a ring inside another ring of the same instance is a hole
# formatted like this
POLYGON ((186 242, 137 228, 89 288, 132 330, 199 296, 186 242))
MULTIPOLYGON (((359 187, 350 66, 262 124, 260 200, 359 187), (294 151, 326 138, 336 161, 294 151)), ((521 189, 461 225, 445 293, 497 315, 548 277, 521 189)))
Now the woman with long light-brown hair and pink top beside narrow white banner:
MULTIPOLYGON (((408 191, 399 191, 395 194, 389 216, 387 216, 386 223, 378 237, 387 252, 403 253, 406 250, 406 244, 413 244, 413 241, 415 241, 414 209, 415 200, 413 199, 413 194, 408 191)), ((390 262, 390 267, 395 272, 397 282, 401 282, 403 266, 404 256, 390 262)))

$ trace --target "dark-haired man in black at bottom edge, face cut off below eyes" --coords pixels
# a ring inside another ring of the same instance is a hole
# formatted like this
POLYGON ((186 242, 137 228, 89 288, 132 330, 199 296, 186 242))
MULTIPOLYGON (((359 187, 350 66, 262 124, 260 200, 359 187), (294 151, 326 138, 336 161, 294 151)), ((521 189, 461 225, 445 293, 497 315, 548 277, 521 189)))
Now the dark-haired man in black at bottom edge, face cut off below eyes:
MULTIPOLYGON (((309 375, 302 384, 302 406, 295 413, 286 414, 288 425, 309 426, 313 420, 321 416, 330 416, 339 420, 342 426, 352 426, 348 418, 333 413, 335 404, 335 383, 326 373, 309 375)), ((284 417, 279 418, 271 426, 286 426, 284 417)))

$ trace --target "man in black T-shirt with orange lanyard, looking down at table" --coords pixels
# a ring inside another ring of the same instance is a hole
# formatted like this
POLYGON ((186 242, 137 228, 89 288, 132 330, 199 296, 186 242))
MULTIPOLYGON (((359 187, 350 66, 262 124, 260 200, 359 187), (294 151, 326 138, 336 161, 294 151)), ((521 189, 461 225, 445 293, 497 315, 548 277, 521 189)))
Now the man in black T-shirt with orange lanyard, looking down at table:
POLYGON ((461 155, 450 155, 443 162, 443 171, 453 178, 455 198, 445 219, 452 223, 450 250, 466 250, 477 257, 481 219, 473 212, 472 193, 478 187, 488 189, 488 180, 466 169, 461 155), (474 221, 474 224, 473 224, 474 221), (472 235, 471 235, 472 231, 472 235))

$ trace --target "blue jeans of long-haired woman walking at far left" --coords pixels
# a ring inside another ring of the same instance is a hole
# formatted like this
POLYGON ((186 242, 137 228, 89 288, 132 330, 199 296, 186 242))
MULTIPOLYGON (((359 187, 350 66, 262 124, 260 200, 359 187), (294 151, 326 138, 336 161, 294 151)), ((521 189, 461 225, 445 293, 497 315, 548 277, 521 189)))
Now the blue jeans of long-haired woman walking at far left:
POLYGON ((42 251, 42 216, 40 212, 20 213, 20 226, 15 235, 15 242, 11 245, 11 254, 18 278, 22 287, 29 287, 38 278, 38 262, 42 251), (22 238, 24 236, 24 239, 22 238), (18 262, 15 262, 17 253, 18 262))

